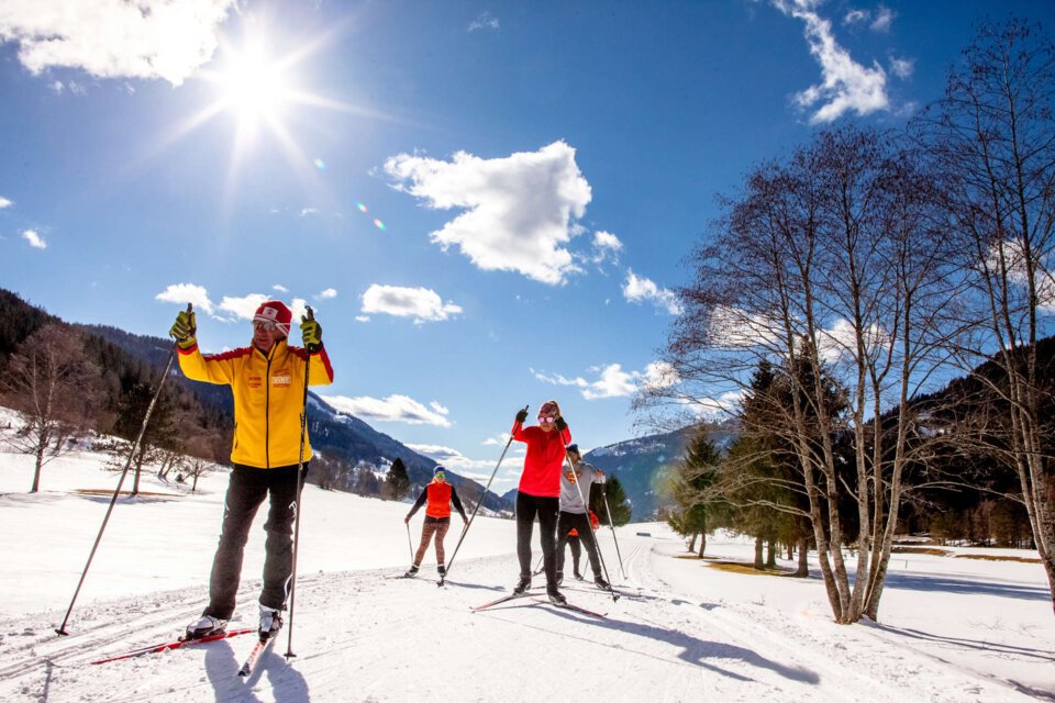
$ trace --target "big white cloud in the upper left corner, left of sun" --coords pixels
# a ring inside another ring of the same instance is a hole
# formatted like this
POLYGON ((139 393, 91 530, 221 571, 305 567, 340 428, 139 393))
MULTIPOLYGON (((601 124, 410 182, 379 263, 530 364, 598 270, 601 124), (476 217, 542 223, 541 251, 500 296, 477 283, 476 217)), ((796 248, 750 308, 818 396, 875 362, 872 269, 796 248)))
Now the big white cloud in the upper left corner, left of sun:
MULTIPOLYGON (((78 68, 98 78, 180 85, 212 58, 236 0, 5 0, 0 42, 34 75, 78 68)), ((70 89, 73 87, 70 86, 70 89)))

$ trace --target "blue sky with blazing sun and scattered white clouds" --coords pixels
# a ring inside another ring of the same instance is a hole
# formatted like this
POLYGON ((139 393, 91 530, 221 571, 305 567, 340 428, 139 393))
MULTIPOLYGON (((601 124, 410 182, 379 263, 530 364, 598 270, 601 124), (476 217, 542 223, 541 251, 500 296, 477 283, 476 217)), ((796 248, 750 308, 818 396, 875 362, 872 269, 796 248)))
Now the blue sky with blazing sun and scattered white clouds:
MULTIPOLYGON (((941 97, 1048 2, 9 0, 0 286, 207 352, 312 305, 323 394, 484 479, 515 411, 638 433, 717 193, 941 97), (134 7, 133 7, 134 5, 134 7), (90 7, 90 10, 84 8, 90 7)), ((515 445, 514 445, 515 446, 515 445)), ((514 486, 508 460, 496 488, 514 486)))

